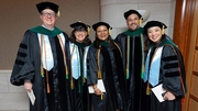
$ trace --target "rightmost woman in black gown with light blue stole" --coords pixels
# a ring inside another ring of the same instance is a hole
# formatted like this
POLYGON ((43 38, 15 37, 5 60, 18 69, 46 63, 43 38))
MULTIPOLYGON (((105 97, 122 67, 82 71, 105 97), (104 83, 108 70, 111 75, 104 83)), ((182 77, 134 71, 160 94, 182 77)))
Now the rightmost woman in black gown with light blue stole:
POLYGON ((185 67, 177 46, 164 34, 166 25, 158 21, 145 24, 150 48, 145 60, 142 111, 182 111, 185 96, 185 67), (153 89, 160 87, 162 101, 153 89))

